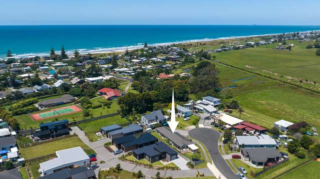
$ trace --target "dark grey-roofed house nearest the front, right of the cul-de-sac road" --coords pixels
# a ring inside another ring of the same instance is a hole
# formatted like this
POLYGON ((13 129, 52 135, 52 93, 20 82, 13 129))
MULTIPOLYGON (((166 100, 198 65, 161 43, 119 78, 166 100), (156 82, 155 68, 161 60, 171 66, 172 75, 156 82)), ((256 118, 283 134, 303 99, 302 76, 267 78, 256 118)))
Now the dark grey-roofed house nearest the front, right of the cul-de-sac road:
POLYGON ((241 155, 254 167, 264 167, 268 163, 276 163, 282 158, 281 154, 273 148, 241 149, 241 155))

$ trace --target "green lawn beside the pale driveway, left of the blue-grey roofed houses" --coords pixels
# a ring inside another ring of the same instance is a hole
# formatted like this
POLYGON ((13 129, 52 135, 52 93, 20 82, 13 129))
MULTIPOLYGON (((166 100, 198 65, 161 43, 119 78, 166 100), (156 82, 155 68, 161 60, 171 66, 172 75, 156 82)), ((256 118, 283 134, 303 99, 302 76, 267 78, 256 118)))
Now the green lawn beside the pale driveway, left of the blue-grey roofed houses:
POLYGON ((124 124, 127 122, 128 121, 125 118, 122 118, 120 115, 117 115, 81 123, 78 126, 81 130, 83 130, 86 133, 90 141, 97 141, 100 137, 98 137, 95 133, 98 132, 100 128, 113 124, 124 124))

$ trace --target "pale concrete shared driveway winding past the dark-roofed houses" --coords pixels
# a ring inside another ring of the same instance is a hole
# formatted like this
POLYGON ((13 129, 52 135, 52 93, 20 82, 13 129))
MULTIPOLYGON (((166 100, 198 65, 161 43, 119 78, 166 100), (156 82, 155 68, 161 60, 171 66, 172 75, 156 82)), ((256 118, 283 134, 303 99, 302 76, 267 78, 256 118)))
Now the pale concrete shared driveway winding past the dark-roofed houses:
MULTIPOLYGON (((117 164, 121 165, 121 168, 130 171, 130 172, 138 172, 141 170, 141 172, 148 177, 154 177, 157 172, 160 172, 161 177, 173 177, 173 178, 181 178, 181 177, 195 177, 195 174, 197 171, 200 173, 204 173, 205 176, 213 176, 211 171, 208 168, 204 169, 189 169, 189 170, 180 170, 180 171, 170 171, 170 170, 164 170, 164 171, 158 171, 153 169, 147 169, 142 166, 138 166, 136 164, 131 164, 128 162, 120 161, 118 157, 120 157, 122 154, 119 155, 113 155, 113 153, 109 152, 105 147, 104 144, 111 141, 110 139, 106 138, 103 140, 99 140, 96 142, 90 142, 85 133, 80 130, 77 126, 71 127, 72 133, 75 133, 78 135, 78 137, 90 148, 92 148, 97 153, 97 160, 98 160, 98 166, 100 166, 99 169, 103 168, 110 168, 115 167, 117 164), (105 161, 104 164, 99 164, 100 161, 105 161)), ((95 173, 98 174, 98 170, 95 170, 95 173)))

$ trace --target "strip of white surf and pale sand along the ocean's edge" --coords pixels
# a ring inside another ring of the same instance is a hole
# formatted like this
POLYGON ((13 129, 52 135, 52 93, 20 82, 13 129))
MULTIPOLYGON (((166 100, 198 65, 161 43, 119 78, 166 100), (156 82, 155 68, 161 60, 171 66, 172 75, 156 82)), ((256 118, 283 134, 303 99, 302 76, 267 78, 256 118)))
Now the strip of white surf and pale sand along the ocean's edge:
MULTIPOLYGON (((308 30, 308 31, 299 31, 299 33, 306 33, 311 31, 320 31, 320 30, 308 30)), ((285 32, 285 34, 290 34, 295 32, 285 32)), ((163 46, 163 45, 173 45, 173 44, 183 44, 183 43, 195 43, 195 42, 209 42, 209 41, 215 41, 215 40, 229 40, 229 39, 238 39, 238 38, 250 38, 250 37, 264 37, 264 36, 271 36, 271 35, 279 35, 283 33, 270 33, 270 34, 258 34, 258 35, 245 35, 245 36, 228 36, 228 37, 218 37, 218 38, 204 38, 204 39, 192 39, 192 40, 183 40, 183 41, 176 41, 176 42, 161 42, 161 43, 153 43, 148 44, 148 46, 163 46)), ((139 45, 131 45, 131 46, 123 46, 123 47, 111 47, 111 48, 83 48, 83 49, 77 49, 81 55, 84 54, 103 54, 103 53, 113 53, 113 52, 124 52, 127 49, 128 50, 135 50, 139 48, 143 48, 144 44, 138 43, 139 45), (141 44, 141 45, 140 45, 141 44)), ((68 55, 72 55, 76 49, 73 50, 66 50, 66 53, 68 55)), ((60 51, 56 51, 56 53, 60 53, 60 51)), ((50 55, 50 52, 44 52, 44 53, 24 53, 24 54, 14 54, 13 56, 16 58, 24 58, 24 57, 35 57, 35 56, 48 56, 50 55)), ((3 57, 5 58, 5 56, 3 57)), ((0 59, 2 57, 0 56, 0 59)))

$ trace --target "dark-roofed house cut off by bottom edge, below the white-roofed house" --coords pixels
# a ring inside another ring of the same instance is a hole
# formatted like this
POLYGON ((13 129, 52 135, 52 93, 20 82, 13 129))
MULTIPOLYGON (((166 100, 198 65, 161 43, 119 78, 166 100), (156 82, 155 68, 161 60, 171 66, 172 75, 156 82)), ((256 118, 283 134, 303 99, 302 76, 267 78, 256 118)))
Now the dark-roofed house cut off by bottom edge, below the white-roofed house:
POLYGON ((93 169, 87 167, 66 168, 38 179, 96 179, 93 169))

